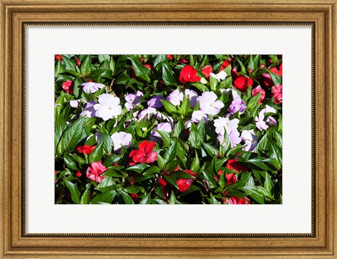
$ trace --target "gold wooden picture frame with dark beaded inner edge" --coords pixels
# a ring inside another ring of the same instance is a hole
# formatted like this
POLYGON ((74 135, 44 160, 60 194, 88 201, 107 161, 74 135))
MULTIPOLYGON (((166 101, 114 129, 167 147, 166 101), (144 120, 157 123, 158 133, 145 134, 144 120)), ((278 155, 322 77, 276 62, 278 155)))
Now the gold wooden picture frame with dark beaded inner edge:
POLYGON ((2 258, 336 258, 336 0, 1 3, 2 258), (76 15, 75 15, 76 14, 76 15), (25 26, 310 25, 315 84, 311 234, 26 234, 25 26))

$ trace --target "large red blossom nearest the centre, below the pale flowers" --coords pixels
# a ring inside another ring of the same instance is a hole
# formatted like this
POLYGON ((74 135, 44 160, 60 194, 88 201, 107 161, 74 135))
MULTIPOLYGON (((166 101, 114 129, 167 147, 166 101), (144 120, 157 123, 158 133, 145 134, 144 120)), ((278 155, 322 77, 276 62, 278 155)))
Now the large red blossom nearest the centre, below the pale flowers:
POLYGON ((147 140, 144 140, 143 142, 140 142, 140 144, 138 145, 138 150, 131 151, 129 155, 129 157, 131 157, 131 161, 129 164, 150 164, 154 161, 157 161, 157 153, 152 150, 153 148, 153 141, 147 142, 147 140))

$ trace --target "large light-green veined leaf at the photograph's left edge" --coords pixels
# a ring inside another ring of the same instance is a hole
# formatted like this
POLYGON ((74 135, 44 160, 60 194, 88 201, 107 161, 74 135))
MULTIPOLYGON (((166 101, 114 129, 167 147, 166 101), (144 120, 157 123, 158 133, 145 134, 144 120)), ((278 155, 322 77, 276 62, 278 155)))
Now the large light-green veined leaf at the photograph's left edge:
POLYGON ((62 135, 58 145, 58 151, 60 154, 63 154, 66 150, 68 152, 74 151, 77 144, 88 136, 84 129, 85 122, 86 119, 81 117, 81 119, 75 121, 65 130, 65 133, 62 135))

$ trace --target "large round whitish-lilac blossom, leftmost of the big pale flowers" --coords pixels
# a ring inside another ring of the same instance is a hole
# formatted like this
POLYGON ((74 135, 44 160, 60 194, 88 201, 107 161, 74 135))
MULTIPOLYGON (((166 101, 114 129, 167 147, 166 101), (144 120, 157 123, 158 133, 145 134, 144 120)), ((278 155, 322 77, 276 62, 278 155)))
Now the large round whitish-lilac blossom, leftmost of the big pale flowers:
POLYGON ((93 108, 97 111, 96 116, 102 118, 104 121, 112 119, 121 114, 121 105, 119 105, 119 98, 109 93, 103 93, 98 96, 98 104, 93 108))

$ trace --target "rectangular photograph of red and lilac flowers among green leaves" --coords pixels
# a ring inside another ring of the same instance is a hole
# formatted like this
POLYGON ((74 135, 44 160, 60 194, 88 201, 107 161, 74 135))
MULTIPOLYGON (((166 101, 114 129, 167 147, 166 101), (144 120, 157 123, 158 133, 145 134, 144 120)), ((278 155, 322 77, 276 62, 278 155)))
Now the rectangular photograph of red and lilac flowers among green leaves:
POLYGON ((55 204, 282 204, 282 55, 55 55, 55 204))

